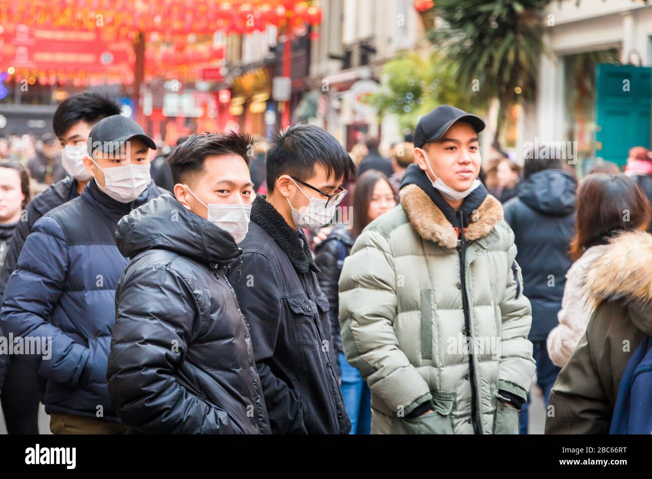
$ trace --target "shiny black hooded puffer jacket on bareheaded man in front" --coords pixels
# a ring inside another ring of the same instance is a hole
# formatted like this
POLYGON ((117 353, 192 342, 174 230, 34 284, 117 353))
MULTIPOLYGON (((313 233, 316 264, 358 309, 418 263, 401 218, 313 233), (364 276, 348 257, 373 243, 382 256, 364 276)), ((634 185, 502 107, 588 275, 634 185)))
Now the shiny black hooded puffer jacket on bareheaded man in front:
MULTIPOLYGON (((165 194, 120 220, 111 405, 138 433, 269 433, 229 233, 165 194)), ((237 261, 236 261, 237 263, 237 261)))

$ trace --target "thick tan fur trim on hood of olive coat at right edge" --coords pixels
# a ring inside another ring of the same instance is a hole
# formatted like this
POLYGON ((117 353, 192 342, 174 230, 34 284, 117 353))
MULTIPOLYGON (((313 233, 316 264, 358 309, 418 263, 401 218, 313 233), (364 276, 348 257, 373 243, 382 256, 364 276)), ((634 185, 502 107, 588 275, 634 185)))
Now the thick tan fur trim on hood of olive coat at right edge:
POLYGON ((637 230, 615 236, 593 261, 584 285, 594 306, 622 301, 633 310, 636 327, 652 334, 652 235, 637 230))

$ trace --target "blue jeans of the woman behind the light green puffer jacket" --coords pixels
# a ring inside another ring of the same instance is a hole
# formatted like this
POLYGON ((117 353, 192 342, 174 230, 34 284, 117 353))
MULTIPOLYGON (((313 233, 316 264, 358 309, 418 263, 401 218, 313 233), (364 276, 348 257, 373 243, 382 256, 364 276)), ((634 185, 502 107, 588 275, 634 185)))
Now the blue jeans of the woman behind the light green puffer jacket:
POLYGON ((371 433, 371 391, 357 369, 348 363, 344 353, 337 354, 342 379, 342 398, 351 420, 349 434, 371 433))

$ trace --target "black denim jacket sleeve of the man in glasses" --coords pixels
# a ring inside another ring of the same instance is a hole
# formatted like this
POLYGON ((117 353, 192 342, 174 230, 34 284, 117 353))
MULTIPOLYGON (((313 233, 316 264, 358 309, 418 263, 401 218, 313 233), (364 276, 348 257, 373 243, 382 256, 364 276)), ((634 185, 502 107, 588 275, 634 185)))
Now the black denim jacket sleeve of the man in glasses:
POLYGON ((254 357, 271 430, 274 434, 306 434, 299 392, 274 374, 274 362, 271 360, 280 324, 284 321, 278 274, 271 261, 258 253, 242 255, 239 280, 237 269, 231 270, 229 282, 235 289, 240 309, 251 328, 254 357))

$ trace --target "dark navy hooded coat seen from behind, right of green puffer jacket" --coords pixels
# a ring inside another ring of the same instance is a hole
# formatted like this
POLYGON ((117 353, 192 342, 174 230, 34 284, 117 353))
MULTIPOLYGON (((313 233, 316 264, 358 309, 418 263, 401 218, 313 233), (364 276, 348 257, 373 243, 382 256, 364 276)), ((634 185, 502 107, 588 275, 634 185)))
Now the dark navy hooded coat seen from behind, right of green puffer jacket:
POLYGON ((523 293, 532 305, 531 341, 545 341, 556 327, 571 267, 577 182, 560 169, 538 171, 518 186, 518 196, 503 205, 514 231, 523 293))

